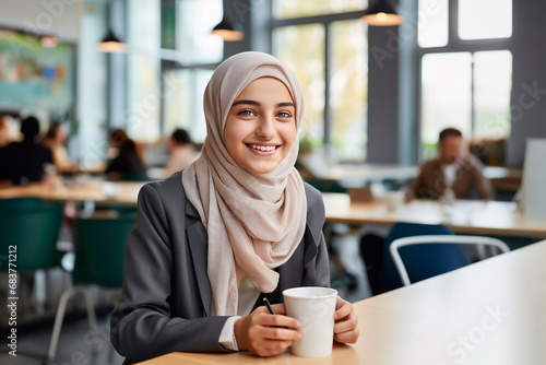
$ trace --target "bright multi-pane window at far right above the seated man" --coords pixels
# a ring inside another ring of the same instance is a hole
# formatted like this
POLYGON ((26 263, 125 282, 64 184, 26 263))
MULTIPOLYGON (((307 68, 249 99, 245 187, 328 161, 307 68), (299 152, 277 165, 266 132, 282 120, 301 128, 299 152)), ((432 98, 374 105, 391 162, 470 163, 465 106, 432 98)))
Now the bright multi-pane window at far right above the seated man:
POLYGON ((422 160, 436 155, 447 127, 473 139, 510 133, 511 0, 455 4, 453 14, 448 0, 419 0, 422 160), (455 20, 458 26, 450 26, 455 20))

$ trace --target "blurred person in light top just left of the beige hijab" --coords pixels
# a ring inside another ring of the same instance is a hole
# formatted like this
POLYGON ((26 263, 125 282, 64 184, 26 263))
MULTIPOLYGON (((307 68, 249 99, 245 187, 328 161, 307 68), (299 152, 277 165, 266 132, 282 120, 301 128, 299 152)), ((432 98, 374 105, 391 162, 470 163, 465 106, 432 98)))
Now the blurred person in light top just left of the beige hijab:
POLYGON ((169 162, 165 166, 165 177, 169 177, 176 172, 188 167, 198 157, 195 145, 188 132, 183 129, 176 129, 170 134, 168 141, 169 162))

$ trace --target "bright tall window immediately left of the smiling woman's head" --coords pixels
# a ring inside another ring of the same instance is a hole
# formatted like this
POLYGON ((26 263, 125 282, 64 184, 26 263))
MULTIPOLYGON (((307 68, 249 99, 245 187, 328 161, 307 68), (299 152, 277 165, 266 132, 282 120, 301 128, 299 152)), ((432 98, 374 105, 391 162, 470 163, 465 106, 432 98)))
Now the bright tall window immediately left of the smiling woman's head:
POLYGON ((169 136, 176 128, 183 128, 194 142, 202 143, 206 137, 204 89, 224 57, 224 42, 211 34, 222 20, 222 0, 165 1, 164 13, 175 27, 164 24, 164 44, 175 45, 175 51, 164 49, 173 57, 164 61, 162 71, 162 133, 169 136))

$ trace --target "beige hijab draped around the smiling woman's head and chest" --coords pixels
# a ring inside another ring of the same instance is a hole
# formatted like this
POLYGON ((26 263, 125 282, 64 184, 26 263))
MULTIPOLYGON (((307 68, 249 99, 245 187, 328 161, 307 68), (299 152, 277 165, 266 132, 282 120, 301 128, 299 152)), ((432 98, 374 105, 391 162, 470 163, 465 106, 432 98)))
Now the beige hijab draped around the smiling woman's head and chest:
POLYGON ((286 85, 299 129, 304 97, 295 75, 271 55, 238 54, 216 69, 206 86, 207 136, 200 158, 182 174, 186 195, 209 235, 213 316, 236 315, 242 273, 261 292, 274 291, 278 273, 273 269, 290 258, 305 232, 306 195, 294 167, 297 140, 280 165, 263 175, 239 167, 224 143, 232 104, 248 84, 263 76, 286 85))

